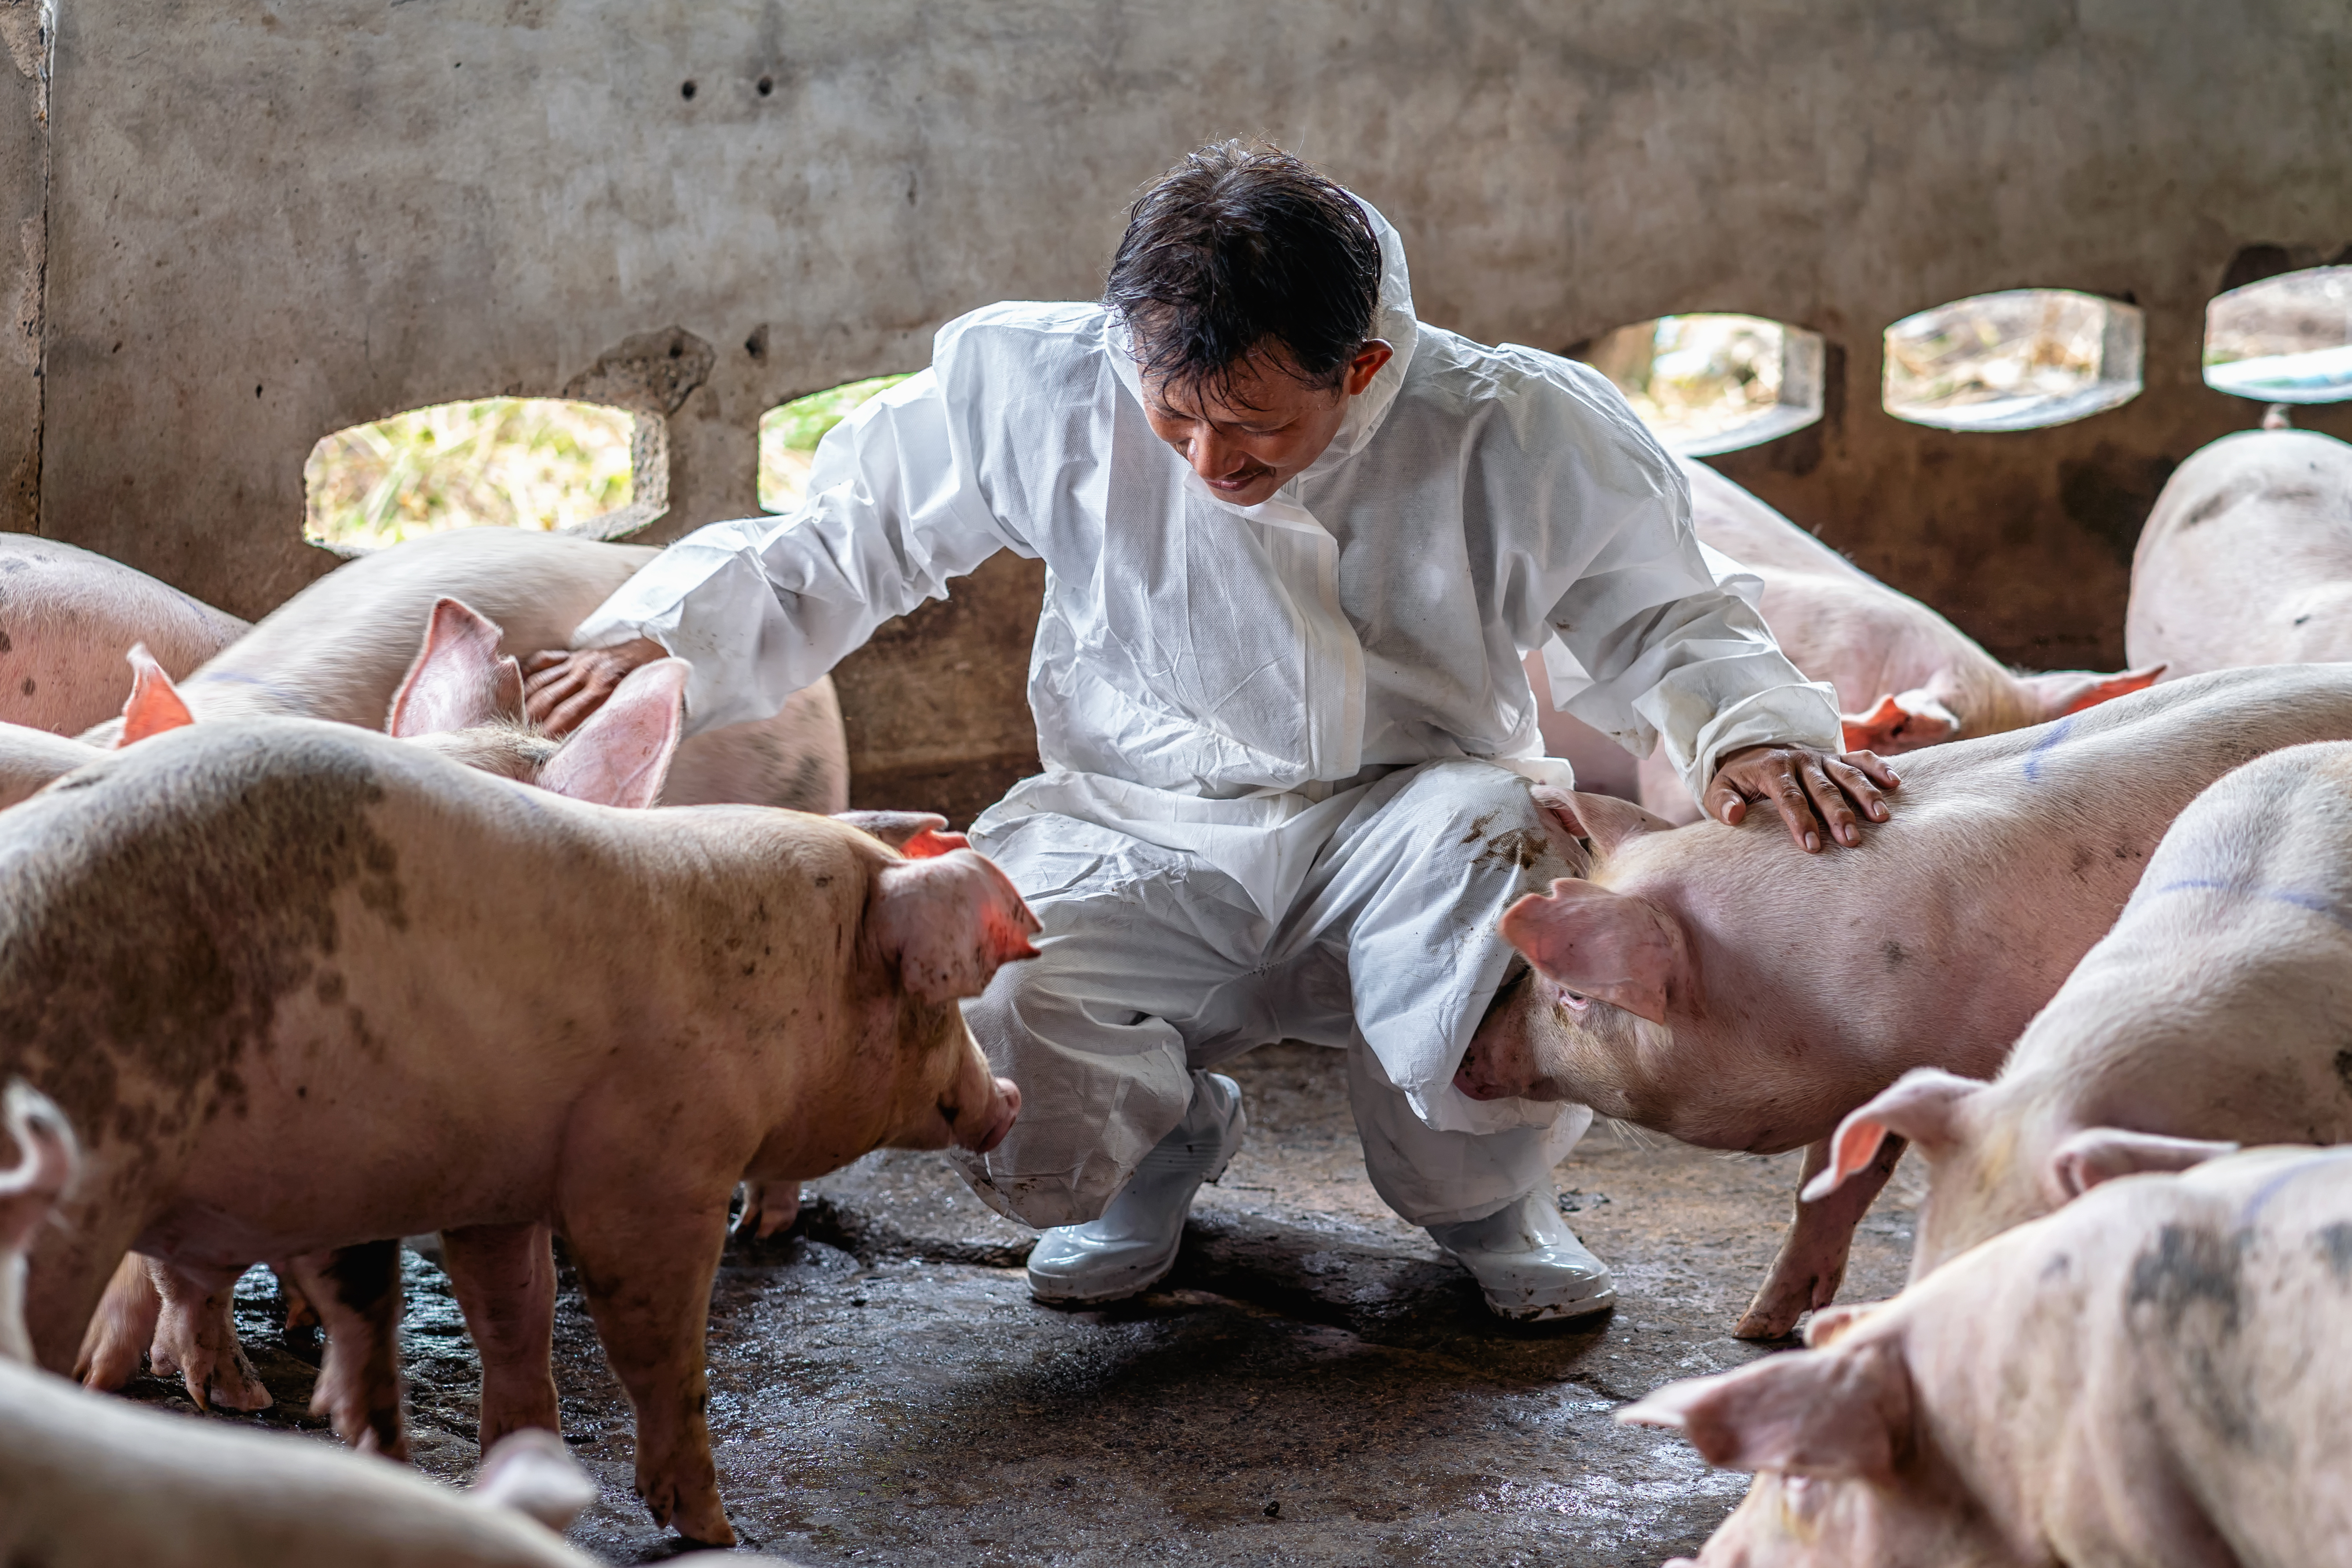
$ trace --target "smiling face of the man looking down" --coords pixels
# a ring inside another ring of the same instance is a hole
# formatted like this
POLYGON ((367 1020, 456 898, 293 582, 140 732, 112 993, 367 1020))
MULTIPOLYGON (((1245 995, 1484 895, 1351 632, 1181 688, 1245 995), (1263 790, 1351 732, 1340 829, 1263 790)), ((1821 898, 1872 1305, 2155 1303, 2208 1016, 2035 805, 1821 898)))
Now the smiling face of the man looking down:
POLYGON ((1336 388, 1308 386, 1279 348, 1251 355, 1211 395, 1207 388, 1143 383, 1143 416, 1183 454, 1192 473, 1235 505, 1258 505, 1324 454, 1392 350, 1374 339, 1336 388))

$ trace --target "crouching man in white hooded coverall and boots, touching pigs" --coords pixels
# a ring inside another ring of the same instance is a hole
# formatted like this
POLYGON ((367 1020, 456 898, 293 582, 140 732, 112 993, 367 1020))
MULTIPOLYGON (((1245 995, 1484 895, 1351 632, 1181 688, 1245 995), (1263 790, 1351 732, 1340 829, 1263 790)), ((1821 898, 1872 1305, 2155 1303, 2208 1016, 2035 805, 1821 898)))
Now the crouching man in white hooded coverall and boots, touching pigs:
POLYGON ((1044 922, 967 1004, 1023 1117, 964 1161, 1049 1227, 1040 1300, 1176 1260, 1242 1143, 1216 1063, 1345 1051, 1374 1187, 1510 1316, 1613 1300, 1550 1171, 1583 1107, 1479 1103, 1454 1070, 1517 957, 1496 919, 1566 865, 1529 780, 1522 670, 1708 809, 1771 799, 1856 844, 1893 773, 1710 576, 1684 480, 1592 371, 1414 320, 1404 247, 1263 146, 1209 146, 1134 205, 1101 306, 1007 303, 826 435, 790 517, 670 545, 541 654, 576 724, 642 661, 694 663, 696 726, 774 712, 997 550, 1042 555, 1044 773, 971 827, 1044 922), (1498 851, 1510 844, 1515 849, 1498 851))

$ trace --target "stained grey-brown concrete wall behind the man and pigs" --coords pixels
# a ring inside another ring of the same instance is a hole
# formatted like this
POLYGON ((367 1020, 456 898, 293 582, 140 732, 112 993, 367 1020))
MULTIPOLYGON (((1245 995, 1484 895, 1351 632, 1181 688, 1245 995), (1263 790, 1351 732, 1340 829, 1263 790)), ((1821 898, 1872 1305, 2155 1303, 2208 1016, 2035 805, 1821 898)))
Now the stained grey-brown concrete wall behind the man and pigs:
MULTIPOLYGON (((66 0, 45 402, 0 350, 0 473, 31 428, 42 531, 259 614, 332 564, 320 435, 633 386, 668 538, 753 510, 767 407, 1094 294, 1136 183, 1268 132, 1399 223, 1432 322, 1823 331, 1825 423, 1722 468, 1997 654, 2112 665, 2166 470, 2258 414, 2197 378, 2206 296, 2246 247, 2352 242, 2347 80, 2324 0, 66 0), (2020 284, 2147 310, 2147 393, 2032 435, 1879 411, 1886 322, 2020 284)), ((21 99, 0 268, 42 209, 21 99)), ((1037 585, 997 562, 844 665, 861 799, 962 811, 1028 764, 1037 585)))

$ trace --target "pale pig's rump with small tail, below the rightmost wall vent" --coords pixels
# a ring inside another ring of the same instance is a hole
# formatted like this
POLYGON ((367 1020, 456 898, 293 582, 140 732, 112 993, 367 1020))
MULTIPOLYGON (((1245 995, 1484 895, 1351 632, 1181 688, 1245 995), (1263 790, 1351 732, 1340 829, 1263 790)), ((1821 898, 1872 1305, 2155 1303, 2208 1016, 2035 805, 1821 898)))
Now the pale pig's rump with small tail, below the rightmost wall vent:
POLYGON ((2241 430, 2190 454, 2131 552, 2124 649, 2176 677, 2352 658, 2352 447, 2241 430))

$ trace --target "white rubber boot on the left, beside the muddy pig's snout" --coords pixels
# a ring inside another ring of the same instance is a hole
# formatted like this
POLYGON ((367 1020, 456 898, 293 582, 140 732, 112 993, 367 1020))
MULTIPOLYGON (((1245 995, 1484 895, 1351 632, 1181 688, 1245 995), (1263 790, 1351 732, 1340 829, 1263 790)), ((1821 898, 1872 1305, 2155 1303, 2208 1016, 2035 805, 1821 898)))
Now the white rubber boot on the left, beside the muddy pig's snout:
POLYGON ((1225 1173, 1225 1161, 1242 1147, 1247 1131, 1242 1086, 1221 1072, 1195 1074, 1183 1121, 1152 1145, 1103 1218, 1037 1237, 1030 1248, 1030 1295, 1042 1302, 1096 1305, 1138 1295, 1167 1279, 1176 1267, 1192 1194, 1225 1173))

